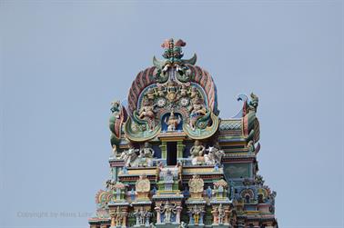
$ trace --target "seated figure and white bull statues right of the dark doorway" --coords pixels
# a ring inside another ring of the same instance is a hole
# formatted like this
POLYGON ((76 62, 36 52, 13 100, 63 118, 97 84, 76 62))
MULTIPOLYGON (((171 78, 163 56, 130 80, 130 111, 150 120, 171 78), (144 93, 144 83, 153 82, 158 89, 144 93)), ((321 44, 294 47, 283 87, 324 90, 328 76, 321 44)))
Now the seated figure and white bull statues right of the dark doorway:
POLYGON ((224 152, 219 149, 218 143, 214 146, 209 146, 207 149, 198 140, 190 149, 192 164, 219 164, 221 162, 224 152), (205 154, 205 152, 208 152, 205 154))

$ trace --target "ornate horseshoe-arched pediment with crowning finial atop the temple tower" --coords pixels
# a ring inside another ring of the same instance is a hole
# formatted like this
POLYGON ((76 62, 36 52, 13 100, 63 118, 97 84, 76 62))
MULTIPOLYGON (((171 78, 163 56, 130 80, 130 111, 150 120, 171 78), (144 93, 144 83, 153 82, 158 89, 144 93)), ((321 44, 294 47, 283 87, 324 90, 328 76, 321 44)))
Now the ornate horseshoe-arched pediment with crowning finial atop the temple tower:
POLYGON ((218 130, 216 85, 210 74, 191 59, 181 59, 185 43, 172 39, 162 45, 164 60, 137 74, 128 95, 126 137, 143 142, 160 132, 184 132, 204 139, 218 130), (169 45, 166 45, 166 44, 169 45))

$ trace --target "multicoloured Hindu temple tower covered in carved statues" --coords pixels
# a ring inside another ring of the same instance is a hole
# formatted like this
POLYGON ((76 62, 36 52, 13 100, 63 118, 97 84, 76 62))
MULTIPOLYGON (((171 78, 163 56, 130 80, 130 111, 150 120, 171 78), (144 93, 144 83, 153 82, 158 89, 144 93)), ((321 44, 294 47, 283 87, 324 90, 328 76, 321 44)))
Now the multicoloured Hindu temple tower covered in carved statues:
POLYGON ((275 196, 258 175, 258 96, 220 118, 217 87, 182 40, 139 72, 111 106, 111 175, 91 228, 278 227, 275 196))

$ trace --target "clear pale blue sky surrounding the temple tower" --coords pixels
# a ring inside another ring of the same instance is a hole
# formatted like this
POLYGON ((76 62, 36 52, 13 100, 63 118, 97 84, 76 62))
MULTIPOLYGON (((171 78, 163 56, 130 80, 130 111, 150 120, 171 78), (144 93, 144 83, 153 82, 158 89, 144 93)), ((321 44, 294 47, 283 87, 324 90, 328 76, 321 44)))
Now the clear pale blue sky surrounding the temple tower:
POLYGON ((169 37, 213 75, 222 118, 237 114, 237 94, 258 94, 259 173, 278 193, 280 227, 343 227, 341 1, 1 0, 0 10, 1 227, 87 227, 109 173, 110 102, 169 37))

